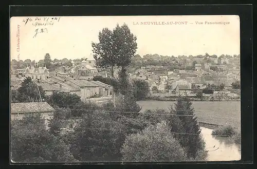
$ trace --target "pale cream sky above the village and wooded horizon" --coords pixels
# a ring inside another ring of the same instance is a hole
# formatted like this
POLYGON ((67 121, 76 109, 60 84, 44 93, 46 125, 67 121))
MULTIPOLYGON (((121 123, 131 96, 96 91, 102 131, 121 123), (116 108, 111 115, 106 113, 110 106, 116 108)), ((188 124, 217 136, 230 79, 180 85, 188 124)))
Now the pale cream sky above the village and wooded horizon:
POLYGON ((99 31, 123 23, 136 35, 135 54, 141 57, 240 54, 237 15, 31 16, 10 19, 10 59, 39 61, 46 53, 52 60, 87 58, 92 53, 91 42, 99 42, 99 31))

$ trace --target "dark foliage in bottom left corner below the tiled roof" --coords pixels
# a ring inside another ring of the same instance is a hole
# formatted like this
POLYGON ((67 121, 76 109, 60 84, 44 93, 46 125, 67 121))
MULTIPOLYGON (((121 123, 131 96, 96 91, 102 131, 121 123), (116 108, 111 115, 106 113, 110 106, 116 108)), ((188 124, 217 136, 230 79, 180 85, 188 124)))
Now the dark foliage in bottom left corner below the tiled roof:
POLYGON ((14 162, 76 161, 63 140, 46 130, 40 114, 11 122, 11 159, 14 162))

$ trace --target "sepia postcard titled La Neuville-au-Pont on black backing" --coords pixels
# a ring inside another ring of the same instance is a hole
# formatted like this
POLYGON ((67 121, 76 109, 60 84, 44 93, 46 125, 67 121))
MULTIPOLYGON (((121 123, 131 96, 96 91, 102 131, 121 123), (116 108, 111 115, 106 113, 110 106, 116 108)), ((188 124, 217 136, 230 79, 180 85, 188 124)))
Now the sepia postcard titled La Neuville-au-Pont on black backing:
POLYGON ((241 159, 240 17, 10 18, 12 162, 241 159))

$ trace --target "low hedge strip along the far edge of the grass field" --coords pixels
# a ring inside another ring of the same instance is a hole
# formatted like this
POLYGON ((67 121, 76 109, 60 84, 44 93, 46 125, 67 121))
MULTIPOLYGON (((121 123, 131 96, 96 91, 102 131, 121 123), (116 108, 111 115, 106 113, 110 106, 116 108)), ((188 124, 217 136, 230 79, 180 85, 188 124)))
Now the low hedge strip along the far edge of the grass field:
MULTIPOLYGON (((203 97, 202 99, 198 99, 195 96, 188 96, 188 98, 191 101, 199 101, 199 102, 203 102, 203 101, 218 101, 218 102, 227 102, 227 101, 241 101, 240 97, 203 97)), ((149 96, 146 97, 144 99, 144 101, 176 101, 177 96, 149 96)))

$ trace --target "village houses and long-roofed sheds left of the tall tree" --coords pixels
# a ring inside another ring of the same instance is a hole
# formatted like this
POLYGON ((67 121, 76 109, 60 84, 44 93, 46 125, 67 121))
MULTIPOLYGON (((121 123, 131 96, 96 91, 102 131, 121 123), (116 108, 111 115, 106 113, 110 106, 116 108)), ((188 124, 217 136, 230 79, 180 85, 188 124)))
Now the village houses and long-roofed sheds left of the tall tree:
MULTIPOLYGON (((91 55, 90 55, 91 56, 91 55)), ((97 74, 97 68, 95 68, 96 60, 91 56, 82 62, 73 63, 74 66, 69 68, 67 72, 63 70, 63 67, 54 72, 49 72, 47 67, 40 67, 38 63, 35 63, 34 67, 27 67, 23 70, 18 70, 16 74, 13 74, 11 78, 11 88, 19 88, 23 79, 30 77, 38 86, 41 86, 46 95, 52 95, 54 91, 63 91, 69 93, 75 93, 81 100, 86 100, 92 97, 106 97, 112 95, 112 86, 104 84, 99 81, 92 81, 94 77, 92 74, 97 74), (68 71, 74 72, 69 74, 68 71), (81 74, 84 73, 83 77, 81 74)))

